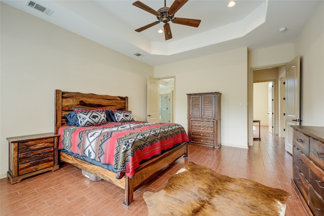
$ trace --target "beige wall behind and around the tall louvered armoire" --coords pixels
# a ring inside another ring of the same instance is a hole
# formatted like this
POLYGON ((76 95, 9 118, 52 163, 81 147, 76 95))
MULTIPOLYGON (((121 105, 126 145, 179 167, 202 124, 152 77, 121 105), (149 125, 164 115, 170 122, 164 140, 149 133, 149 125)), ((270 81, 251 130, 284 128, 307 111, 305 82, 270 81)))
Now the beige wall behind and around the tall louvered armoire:
POLYGON ((221 144, 247 148, 247 54, 241 48, 154 67, 156 78, 176 76, 175 122, 187 128, 186 94, 220 92, 221 144))

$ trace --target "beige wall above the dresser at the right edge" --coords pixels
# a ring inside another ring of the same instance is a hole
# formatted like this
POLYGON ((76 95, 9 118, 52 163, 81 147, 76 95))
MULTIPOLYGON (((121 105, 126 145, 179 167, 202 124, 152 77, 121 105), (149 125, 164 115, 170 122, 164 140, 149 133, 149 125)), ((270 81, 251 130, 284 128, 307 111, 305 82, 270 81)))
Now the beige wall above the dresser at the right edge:
POLYGON ((302 125, 324 126, 324 1, 295 42, 300 55, 302 125))

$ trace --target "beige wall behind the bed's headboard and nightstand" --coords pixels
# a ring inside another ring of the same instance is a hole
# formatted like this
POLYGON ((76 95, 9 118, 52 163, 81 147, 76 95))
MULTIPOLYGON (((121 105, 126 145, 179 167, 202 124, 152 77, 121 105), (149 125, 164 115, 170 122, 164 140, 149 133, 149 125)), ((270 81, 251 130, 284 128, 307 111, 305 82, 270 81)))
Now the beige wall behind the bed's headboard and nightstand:
POLYGON ((153 67, 1 3, 1 177, 7 137, 54 132, 54 90, 129 97, 146 120, 153 67))

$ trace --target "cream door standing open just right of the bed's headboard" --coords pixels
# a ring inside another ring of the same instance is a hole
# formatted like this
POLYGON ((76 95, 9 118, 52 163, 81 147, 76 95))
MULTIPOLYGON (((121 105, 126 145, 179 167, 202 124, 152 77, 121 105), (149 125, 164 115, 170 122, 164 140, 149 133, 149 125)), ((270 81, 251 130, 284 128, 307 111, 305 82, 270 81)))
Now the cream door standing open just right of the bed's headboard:
POLYGON ((159 80, 147 77, 147 121, 159 122, 159 80))

